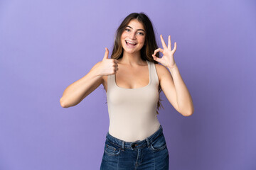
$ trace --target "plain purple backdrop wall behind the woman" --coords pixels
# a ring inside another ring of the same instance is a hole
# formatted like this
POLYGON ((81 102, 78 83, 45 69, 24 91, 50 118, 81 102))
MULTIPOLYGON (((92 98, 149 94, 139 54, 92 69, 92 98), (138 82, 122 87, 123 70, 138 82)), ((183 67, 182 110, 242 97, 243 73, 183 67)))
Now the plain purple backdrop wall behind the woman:
POLYGON ((109 126, 103 86, 62 108, 65 88, 112 51, 129 13, 145 12, 193 98, 190 117, 161 92, 175 170, 256 169, 255 1, 0 1, 0 169, 100 169, 109 126))

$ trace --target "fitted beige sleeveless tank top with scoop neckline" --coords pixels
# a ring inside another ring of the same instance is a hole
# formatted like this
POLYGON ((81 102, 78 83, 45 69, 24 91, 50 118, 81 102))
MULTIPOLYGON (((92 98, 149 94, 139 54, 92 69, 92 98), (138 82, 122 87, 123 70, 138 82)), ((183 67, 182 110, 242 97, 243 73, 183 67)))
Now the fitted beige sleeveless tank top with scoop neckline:
POLYGON ((149 84, 135 89, 117 86, 115 74, 107 76, 109 133, 126 142, 145 140, 159 129, 156 115, 159 79, 154 62, 146 61, 149 84))

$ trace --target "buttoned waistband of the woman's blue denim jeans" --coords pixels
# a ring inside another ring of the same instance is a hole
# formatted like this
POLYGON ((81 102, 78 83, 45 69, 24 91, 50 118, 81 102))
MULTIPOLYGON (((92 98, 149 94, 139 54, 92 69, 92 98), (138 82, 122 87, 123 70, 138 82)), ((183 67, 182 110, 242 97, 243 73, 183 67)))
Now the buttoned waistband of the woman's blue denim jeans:
POLYGON ((111 142, 113 145, 116 145, 119 148, 127 148, 127 149, 140 149, 143 147, 150 147, 151 142, 153 142, 159 135, 163 133, 163 127, 160 125, 159 130, 154 132, 153 135, 150 135, 149 137, 146 137, 145 140, 137 140, 135 142, 125 142, 124 140, 119 140, 116 137, 113 137, 110 135, 109 132, 107 132, 106 139, 108 142, 111 142))

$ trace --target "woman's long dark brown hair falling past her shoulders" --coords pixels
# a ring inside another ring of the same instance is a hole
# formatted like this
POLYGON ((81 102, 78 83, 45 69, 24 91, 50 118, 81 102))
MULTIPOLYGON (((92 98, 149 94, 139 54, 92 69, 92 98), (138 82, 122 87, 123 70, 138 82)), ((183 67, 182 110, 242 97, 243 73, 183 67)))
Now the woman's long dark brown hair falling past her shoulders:
MULTIPOLYGON (((119 26, 119 28, 117 28, 117 31, 116 31, 116 35, 115 35, 115 38, 114 38, 114 47, 113 47, 113 50, 112 50, 111 58, 117 60, 117 59, 123 57, 123 48, 122 48, 122 44, 121 44, 121 35, 124 32, 124 29, 127 27, 128 23, 132 19, 137 19, 137 21, 142 23, 142 25, 144 26, 144 29, 146 31, 146 37, 145 37, 145 42, 144 42, 145 45, 140 50, 142 60, 144 60, 144 61, 148 60, 149 62, 154 62, 154 63, 158 64, 159 62, 156 62, 153 59, 153 57, 151 56, 152 54, 154 54, 154 50, 156 50, 158 47, 157 47, 157 44, 156 44, 154 28, 152 26, 152 23, 151 23, 149 17, 146 16, 146 13, 130 13, 126 18, 124 18, 124 21, 122 21, 121 25, 119 26)), ((156 57, 159 57, 159 53, 156 53, 156 57)), ((161 91, 162 91, 162 89, 161 89, 161 86, 159 84, 159 101, 157 102, 157 110, 158 111, 159 111, 160 106, 162 108, 164 108, 161 105, 161 102, 160 102, 160 101, 162 101, 161 98, 160 98, 161 91)), ((159 114, 158 111, 156 111, 157 114, 159 114)))

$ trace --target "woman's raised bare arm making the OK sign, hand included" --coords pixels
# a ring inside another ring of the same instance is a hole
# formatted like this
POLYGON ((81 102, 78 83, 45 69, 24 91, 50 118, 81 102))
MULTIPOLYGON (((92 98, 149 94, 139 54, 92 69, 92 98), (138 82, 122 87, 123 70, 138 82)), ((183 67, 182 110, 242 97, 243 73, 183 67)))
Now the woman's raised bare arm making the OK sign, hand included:
POLYGON ((174 52, 177 47, 176 42, 174 43, 174 50, 171 50, 171 36, 169 35, 168 47, 166 46, 162 35, 160 35, 160 38, 163 49, 156 49, 152 56, 154 60, 160 62, 165 67, 158 66, 161 89, 164 91, 166 98, 179 113, 184 116, 192 115, 194 111, 193 101, 186 84, 181 78, 176 62, 174 61, 174 52), (163 53, 163 57, 156 57, 156 52, 163 53), (169 71, 166 68, 168 68, 169 71))

